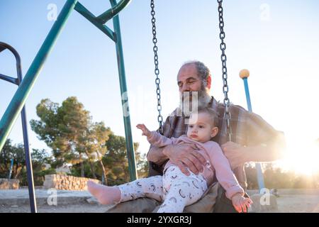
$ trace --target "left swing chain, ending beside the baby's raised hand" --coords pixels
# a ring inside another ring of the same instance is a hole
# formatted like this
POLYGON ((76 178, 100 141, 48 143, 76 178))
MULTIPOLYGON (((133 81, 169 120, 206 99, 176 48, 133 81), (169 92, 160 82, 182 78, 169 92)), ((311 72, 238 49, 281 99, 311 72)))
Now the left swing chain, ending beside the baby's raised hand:
POLYGON ((159 68, 158 68, 158 55, 157 55, 157 38, 156 38, 156 26, 155 26, 155 5, 154 5, 154 0, 150 1, 150 6, 151 6, 151 15, 152 15, 152 34, 153 34, 153 51, 154 51, 154 64, 155 64, 155 84, 156 84, 156 94, 157 94, 157 111, 158 111, 158 116, 157 116, 157 121, 159 123, 159 133, 162 134, 162 122, 163 122, 163 117, 161 115, 162 111, 162 106, 161 106, 161 90, 159 89, 159 68))

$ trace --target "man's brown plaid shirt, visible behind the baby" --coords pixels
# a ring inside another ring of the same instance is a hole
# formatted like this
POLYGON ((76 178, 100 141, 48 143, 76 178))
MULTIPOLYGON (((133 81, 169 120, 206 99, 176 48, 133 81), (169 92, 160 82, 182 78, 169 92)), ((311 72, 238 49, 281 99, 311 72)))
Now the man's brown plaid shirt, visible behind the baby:
MULTIPOLYGON (((225 119, 223 118, 225 112, 224 104, 220 104, 216 99, 212 97, 208 103, 208 107, 211 107, 219 114, 218 128, 219 132, 212 140, 216 141, 220 145, 228 141, 228 130, 225 119)), ((257 114, 253 114, 242 106, 230 105, 230 128, 231 128, 231 140, 234 143, 240 145, 253 146, 267 143, 277 135, 278 131, 274 130, 272 126, 264 121, 257 114)), ((186 116, 177 116, 177 109, 170 114, 164 122, 163 135, 171 138, 178 138, 181 135, 186 134, 187 124, 185 123, 186 116)), ((152 150, 152 145, 150 147, 152 150)), ((149 150, 149 152, 150 152, 149 150)), ((154 162, 150 162, 150 175, 162 174, 162 168, 166 162, 161 166, 156 165, 154 162), (156 173, 157 172, 157 173, 156 173)), ((233 170, 238 182, 242 188, 247 189, 247 178, 245 175, 245 165, 236 167, 233 170)))

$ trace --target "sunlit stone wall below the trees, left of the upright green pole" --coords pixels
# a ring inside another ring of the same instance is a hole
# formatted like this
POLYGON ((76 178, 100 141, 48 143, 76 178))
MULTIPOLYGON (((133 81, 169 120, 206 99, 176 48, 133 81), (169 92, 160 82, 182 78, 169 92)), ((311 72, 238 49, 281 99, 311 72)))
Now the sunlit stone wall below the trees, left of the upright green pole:
POLYGON ((72 177, 67 175, 45 175, 45 182, 43 187, 45 189, 58 189, 58 190, 86 190, 86 182, 89 180, 101 184, 97 179, 90 179, 86 177, 72 177))

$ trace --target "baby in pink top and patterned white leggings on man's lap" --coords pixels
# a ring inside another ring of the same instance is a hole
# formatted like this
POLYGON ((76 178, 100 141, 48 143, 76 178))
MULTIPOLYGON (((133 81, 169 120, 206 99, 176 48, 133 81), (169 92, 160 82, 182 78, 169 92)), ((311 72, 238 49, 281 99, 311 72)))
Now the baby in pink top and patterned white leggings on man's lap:
POLYGON ((191 114, 186 135, 179 138, 166 138, 156 131, 149 131, 145 125, 138 124, 142 135, 155 146, 163 147, 171 144, 191 143, 198 148, 197 152, 206 158, 206 165, 198 175, 191 172, 189 176, 179 170, 170 160, 164 167, 163 176, 137 179, 116 187, 106 187, 94 182, 88 182, 89 192, 101 204, 114 204, 123 201, 148 197, 161 201, 158 213, 181 213, 184 207, 201 199, 208 187, 213 183, 216 174, 218 182, 226 191, 238 212, 247 212, 252 200, 245 198, 244 190, 237 182, 230 169, 229 162, 218 143, 211 141, 217 135, 218 116, 210 108, 198 109, 191 114))

